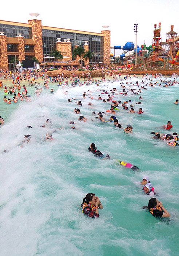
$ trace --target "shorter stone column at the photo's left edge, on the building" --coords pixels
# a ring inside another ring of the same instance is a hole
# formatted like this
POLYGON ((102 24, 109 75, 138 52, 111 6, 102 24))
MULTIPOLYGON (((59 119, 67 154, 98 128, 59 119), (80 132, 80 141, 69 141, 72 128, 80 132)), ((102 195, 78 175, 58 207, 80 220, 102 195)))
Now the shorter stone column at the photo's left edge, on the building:
POLYGON ((7 36, 4 32, 0 32, 0 67, 1 69, 8 69, 8 55, 7 55, 7 36))

